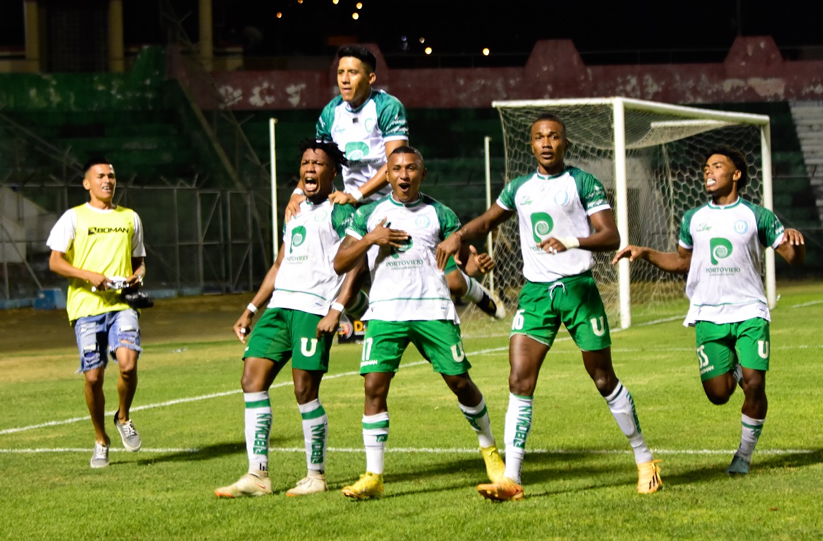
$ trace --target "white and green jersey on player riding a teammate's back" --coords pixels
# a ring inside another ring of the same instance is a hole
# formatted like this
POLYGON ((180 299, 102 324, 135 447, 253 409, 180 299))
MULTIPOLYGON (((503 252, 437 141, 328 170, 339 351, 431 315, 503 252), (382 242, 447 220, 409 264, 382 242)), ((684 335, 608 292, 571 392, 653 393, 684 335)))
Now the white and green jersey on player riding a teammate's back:
MULTIPOLYGON (((344 192, 353 192, 383 167, 387 161, 386 141, 409 138, 403 104, 393 95, 374 89, 357 109, 351 109, 339 95, 332 99, 320 113, 315 129, 318 141, 334 141, 349 161, 343 167, 344 192)), ((377 201, 391 192, 392 187, 387 185, 369 200, 377 201)))

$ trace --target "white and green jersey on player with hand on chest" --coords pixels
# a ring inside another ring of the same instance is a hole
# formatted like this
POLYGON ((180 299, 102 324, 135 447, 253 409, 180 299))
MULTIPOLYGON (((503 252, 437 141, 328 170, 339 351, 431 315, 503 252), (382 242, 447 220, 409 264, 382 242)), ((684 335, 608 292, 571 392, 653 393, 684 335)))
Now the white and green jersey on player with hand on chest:
POLYGON ((407 232, 411 238, 402 249, 377 245, 369 248, 371 290, 369 310, 362 319, 458 323, 449 285, 435 257, 437 245, 460 229, 457 215, 423 194, 407 205, 389 195, 361 206, 346 234, 360 240, 384 218, 386 225, 407 232))

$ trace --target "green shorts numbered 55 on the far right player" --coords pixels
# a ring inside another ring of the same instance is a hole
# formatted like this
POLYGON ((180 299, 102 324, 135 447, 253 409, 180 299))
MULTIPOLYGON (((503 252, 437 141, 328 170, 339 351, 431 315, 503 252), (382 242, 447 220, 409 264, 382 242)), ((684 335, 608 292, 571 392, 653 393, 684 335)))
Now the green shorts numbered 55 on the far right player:
POLYGON ((769 370, 769 321, 753 317, 736 323, 695 323, 700 381, 734 369, 735 363, 753 370, 769 370))

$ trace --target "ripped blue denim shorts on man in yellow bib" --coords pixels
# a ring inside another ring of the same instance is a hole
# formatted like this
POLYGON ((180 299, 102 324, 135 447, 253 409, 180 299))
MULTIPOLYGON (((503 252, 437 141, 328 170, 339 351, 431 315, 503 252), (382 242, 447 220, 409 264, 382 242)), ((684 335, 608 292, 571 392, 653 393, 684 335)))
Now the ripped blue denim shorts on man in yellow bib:
POLYGON ((133 349, 138 355, 142 351, 137 311, 133 308, 80 317, 75 321, 74 334, 77 336, 77 349, 80 350, 78 372, 105 368, 109 363, 106 350, 115 360, 114 352, 118 348, 133 349))

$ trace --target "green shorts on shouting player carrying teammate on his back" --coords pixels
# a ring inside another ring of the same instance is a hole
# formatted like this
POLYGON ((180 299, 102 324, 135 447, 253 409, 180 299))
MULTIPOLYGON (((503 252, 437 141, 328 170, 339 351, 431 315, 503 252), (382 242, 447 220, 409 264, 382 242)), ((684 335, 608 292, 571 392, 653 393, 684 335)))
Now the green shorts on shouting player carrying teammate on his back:
POLYGON ((333 335, 316 338, 323 316, 291 310, 267 308, 249 336, 243 358, 267 358, 278 371, 291 359, 292 368, 328 372, 328 350, 333 335))

